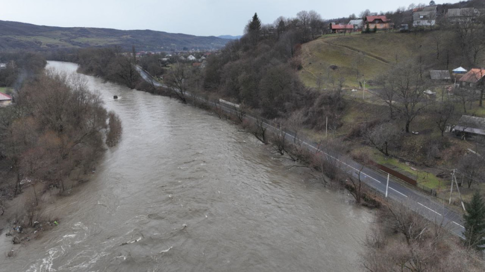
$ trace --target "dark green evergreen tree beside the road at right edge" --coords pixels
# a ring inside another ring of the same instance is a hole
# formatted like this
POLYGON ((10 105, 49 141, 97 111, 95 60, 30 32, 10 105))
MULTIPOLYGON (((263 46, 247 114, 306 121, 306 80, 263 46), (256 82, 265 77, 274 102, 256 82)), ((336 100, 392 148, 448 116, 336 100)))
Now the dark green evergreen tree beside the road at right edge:
POLYGON ((485 245, 485 203, 478 191, 475 191, 470 202, 465 203, 463 214, 465 243, 477 250, 485 245))

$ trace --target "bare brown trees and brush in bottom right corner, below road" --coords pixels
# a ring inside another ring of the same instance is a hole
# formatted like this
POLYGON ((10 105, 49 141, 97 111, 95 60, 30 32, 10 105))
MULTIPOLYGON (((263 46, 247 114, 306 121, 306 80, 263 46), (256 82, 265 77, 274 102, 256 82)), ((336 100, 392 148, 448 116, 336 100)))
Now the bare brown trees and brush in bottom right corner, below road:
POLYGON ((432 222, 402 203, 377 214, 364 241, 362 266, 368 271, 479 271, 483 262, 466 251, 441 222, 432 222), (457 258, 456 256, 460 256, 457 258))

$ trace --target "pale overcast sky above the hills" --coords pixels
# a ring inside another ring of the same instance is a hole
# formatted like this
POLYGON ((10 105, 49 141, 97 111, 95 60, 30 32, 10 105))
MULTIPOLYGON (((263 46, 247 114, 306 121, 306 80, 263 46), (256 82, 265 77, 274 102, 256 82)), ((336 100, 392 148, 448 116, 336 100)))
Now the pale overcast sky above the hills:
MULTIPOLYGON (((436 4, 457 0, 434 0, 436 4)), ((0 20, 60 27, 151 29, 198 36, 241 35, 258 13, 272 23, 315 10, 322 18, 394 11, 412 0, 0 0, 0 20)))

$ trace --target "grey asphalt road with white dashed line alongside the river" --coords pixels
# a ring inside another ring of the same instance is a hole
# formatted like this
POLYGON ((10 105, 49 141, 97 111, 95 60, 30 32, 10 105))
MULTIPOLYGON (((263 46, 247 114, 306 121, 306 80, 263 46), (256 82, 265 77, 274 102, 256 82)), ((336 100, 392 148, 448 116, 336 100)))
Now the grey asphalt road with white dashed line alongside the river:
MULTIPOLYGON (((144 80, 147 80, 149 82, 151 81, 152 77, 146 71, 143 71, 141 67, 138 66, 136 66, 136 69, 144 80)), ((157 81, 153 81, 153 83, 157 87, 168 88, 167 86, 160 84, 157 81)), ((187 93, 187 95, 189 94, 187 93)), ((210 105, 213 104, 217 107, 220 107, 227 113, 234 114, 236 112, 236 109, 234 107, 225 105, 223 103, 208 101, 200 97, 196 99, 200 100, 201 102, 210 105)), ((249 115, 245 115, 245 118, 256 120, 255 117, 249 115)), ((269 121, 265 121, 263 125, 265 125, 267 129, 272 130, 274 133, 281 132, 276 125, 271 124, 271 122, 269 121)), ((292 142, 295 140, 294 133, 286 131, 284 129, 283 132, 286 133, 285 139, 288 139, 292 142)), ((337 160, 341 163, 341 166, 344 169, 358 177, 359 170, 362 167, 361 164, 355 162, 350 158, 335 154, 334 152, 332 152, 332 154, 328 154, 325 149, 321 148, 321 146, 319 146, 317 143, 304 141, 299 138, 297 138, 296 141, 299 141, 302 146, 308 148, 310 152, 321 153, 322 156, 328 156, 337 160)), ((360 175, 361 180, 363 180, 370 187, 374 188, 376 191, 385 195, 387 182, 387 175, 385 173, 377 172, 370 168, 363 167, 360 175)), ((465 230, 465 228, 463 227, 462 216, 445 207, 444 202, 440 202, 437 198, 425 195, 420 191, 417 191, 416 189, 410 188, 408 186, 404 186, 400 182, 398 182, 393 176, 391 176, 389 180, 389 189, 387 196, 402 203, 402 205, 408 207, 409 209, 416 211, 423 217, 431 221, 437 222, 438 224, 442 224, 453 234, 464 239, 463 231, 465 230)))

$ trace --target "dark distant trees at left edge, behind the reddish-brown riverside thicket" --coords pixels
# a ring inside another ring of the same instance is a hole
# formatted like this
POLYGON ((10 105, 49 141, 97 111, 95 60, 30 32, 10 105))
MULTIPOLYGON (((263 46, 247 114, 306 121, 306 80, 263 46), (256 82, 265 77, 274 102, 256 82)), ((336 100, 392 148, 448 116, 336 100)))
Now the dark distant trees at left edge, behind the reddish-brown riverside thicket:
POLYGON ((39 74, 45 64, 45 58, 37 52, 2 52, 0 63, 5 68, 0 69, 0 87, 19 87, 27 78, 39 74))

